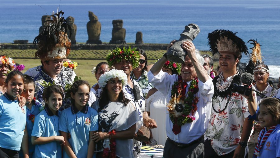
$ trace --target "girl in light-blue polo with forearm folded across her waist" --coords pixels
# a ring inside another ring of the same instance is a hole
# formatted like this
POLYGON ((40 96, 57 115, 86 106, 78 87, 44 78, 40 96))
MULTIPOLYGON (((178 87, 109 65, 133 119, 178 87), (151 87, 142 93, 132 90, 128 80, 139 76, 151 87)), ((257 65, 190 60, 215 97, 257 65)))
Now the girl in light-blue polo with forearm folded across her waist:
POLYGON ((58 123, 64 91, 61 86, 52 85, 44 89, 44 110, 34 121, 31 142, 35 145, 33 157, 61 157, 60 145, 65 145, 64 137, 60 136, 58 123))

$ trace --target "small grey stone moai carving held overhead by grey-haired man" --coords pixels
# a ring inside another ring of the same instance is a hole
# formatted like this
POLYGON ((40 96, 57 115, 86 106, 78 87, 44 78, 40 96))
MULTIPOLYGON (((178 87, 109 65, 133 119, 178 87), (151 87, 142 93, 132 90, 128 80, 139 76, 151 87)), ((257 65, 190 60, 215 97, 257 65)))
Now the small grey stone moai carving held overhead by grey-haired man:
POLYGON ((184 31, 180 34, 180 39, 174 42, 174 45, 167 51, 167 59, 175 63, 184 63, 187 51, 181 47, 182 43, 193 41, 199 32, 200 29, 197 24, 186 25, 184 31))

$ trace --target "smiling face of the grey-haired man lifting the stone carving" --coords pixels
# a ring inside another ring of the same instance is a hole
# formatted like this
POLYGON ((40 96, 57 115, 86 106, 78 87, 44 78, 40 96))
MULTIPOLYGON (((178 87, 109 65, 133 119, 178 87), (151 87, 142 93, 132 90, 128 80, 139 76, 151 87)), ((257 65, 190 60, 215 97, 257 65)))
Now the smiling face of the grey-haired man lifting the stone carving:
POLYGON ((194 77, 197 76, 194 65, 189 59, 189 56, 186 56, 185 62, 181 66, 181 76, 184 81, 191 81, 194 77))

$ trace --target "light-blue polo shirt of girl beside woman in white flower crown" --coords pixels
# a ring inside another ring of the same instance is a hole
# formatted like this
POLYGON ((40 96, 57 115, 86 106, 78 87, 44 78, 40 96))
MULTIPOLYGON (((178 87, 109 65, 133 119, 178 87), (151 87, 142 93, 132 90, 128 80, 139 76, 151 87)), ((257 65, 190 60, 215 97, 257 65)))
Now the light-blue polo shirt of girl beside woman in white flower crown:
MULTIPOLYGON (((85 106, 81 111, 71 106, 62 111, 59 119, 59 130, 71 134, 68 141, 75 155, 86 157, 89 132, 98 131, 98 113, 89 106, 85 106)), ((69 157, 65 151, 63 157, 69 157)))

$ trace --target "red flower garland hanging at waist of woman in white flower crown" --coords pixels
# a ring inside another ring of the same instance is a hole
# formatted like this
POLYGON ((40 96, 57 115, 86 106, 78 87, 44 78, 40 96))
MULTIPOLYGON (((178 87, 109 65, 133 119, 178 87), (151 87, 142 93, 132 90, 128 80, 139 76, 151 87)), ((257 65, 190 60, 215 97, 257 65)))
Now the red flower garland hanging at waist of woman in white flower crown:
POLYGON ((109 132, 110 135, 110 149, 107 147, 105 149, 103 149, 103 154, 102 157, 103 158, 116 158, 116 139, 115 138, 111 138, 111 135, 115 135, 116 134, 116 130, 113 129, 111 132, 109 132))

